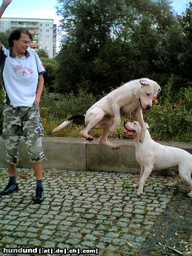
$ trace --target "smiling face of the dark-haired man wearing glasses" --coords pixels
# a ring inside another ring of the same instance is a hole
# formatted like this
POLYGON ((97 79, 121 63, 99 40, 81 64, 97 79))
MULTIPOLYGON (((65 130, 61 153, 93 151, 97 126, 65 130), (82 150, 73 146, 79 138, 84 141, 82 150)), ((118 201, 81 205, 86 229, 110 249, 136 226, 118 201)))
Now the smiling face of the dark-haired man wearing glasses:
POLYGON ((19 40, 13 40, 14 46, 13 49, 18 52, 20 55, 23 55, 27 48, 30 46, 31 39, 27 34, 21 33, 19 40))

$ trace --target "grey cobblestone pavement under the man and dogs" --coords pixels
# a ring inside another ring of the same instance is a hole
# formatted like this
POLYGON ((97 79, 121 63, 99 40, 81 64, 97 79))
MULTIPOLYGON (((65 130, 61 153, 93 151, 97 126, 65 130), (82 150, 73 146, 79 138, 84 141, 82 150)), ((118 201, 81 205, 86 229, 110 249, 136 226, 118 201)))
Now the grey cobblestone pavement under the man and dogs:
MULTIPOLYGON (((5 169, 0 170, 0 178, 3 189, 7 184, 5 169)), ((98 255, 103 256, 179 255, 176 250, 191 255, 189 188, 168 188, 166 183, 172 177, 150 176, 143 195, 137 197, 131 185, 138 178, 45 170, 45 200, 34 204, 33 171, 18 169, 19 191, 0 197, 0 255, 57 256, 65 255, 64 248, 98 248, 98 255), (31 248, 31 253, 3 253, 3 247, 31 248)), ((73 252, 67 255, 79 253, 73 252)), ((86 253, 79 255, 95 255, 86 253)))

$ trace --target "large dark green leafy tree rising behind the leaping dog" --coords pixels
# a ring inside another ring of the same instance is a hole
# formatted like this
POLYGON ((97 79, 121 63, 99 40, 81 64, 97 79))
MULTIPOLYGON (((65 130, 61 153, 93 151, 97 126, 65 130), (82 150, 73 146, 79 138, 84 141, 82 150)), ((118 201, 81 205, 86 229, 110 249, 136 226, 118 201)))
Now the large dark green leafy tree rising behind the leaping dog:
POLYGON ((139 77, 162 85, 178 75, 184 39, 168 0, 60 0, 57 12, 57 92, 100 94, 139 77))

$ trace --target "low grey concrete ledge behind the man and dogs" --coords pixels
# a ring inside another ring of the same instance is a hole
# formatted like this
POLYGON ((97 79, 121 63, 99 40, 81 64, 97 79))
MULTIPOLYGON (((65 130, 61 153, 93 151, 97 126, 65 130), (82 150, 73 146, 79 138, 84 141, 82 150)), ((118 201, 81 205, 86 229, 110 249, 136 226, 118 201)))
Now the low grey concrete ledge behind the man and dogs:
MULTIPOLYGON (((47 160, 44 168, 59 170, 103 171, 138 174, 140 166, 135 159, 135 146, 130 140, 111 140, 120 143, 118 150, 111 150, 98 143, 98 139, 86 142, 84 138, 44 137, 43 147, 47 160)), ((192 152, 191 143, 160 142, 166 146, 180 147, 192 152)), ((0 138, 0 167, 6 167, 5 145, 0 138)), ((20 144, 20 168, 31 168, 24 140, 20 144)))

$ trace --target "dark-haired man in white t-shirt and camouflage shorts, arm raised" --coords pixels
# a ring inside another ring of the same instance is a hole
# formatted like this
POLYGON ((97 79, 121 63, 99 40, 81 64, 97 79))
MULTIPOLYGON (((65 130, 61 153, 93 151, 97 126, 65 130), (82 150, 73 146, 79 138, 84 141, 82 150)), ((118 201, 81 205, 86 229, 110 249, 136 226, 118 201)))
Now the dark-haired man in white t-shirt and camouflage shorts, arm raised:
MULTIPOLYGON (((3 0, 0 18, 12 0, 3 0)), ((43 92, 44 66, 33 49, 28 49, 32 35, 25 28, 18 28, 9 37, 10 51, 0 42, 0 67, 5 92, 3 109, 3 139, 6 144, 6 161, 9 183, 0 192, 8 195, 18 190, 16 163, 19 161, 20 136, 24 136, 28 154, 36 176, 35 203, 44 200, 43 164, 45 158, 42 138, 39 102, 43 92)))

